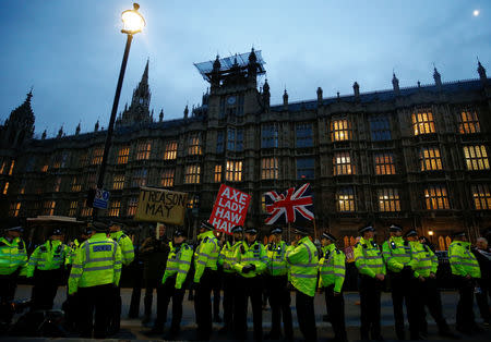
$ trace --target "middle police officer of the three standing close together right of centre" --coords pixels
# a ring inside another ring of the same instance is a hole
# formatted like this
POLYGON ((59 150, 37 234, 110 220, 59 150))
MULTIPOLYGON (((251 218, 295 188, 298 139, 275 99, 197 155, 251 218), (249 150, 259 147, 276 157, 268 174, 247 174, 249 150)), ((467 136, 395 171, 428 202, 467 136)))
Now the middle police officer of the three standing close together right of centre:
POLYGON ((396 335, 397 339, 405 340, 403 305, 406 303, 410 338, 419 340, 418 297, 415 291, 418 284, 409 264, 411 248, 409 242, 403 239, 400 227, 392 224, 388 232, 391 237, 383 243, 382 255, 391 280, 396 335))

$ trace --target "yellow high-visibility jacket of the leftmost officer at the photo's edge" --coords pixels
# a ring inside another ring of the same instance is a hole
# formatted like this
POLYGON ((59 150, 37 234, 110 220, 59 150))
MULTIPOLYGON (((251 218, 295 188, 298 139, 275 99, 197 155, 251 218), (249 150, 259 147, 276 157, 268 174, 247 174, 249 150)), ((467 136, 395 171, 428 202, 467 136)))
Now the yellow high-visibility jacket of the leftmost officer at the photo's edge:
POLYGON ((0 274, 9 276, 19 268, 24 270, 27 265, 27 252, 22 239, 15 237, 11 242, 0 237, 0 274))

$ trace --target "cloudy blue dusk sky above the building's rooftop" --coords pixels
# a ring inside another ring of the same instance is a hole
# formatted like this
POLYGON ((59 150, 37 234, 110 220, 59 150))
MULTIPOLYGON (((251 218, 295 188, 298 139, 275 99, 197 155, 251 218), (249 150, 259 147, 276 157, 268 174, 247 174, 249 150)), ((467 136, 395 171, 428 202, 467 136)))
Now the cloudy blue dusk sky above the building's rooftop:
MULTIPOLYGON (((120 109, 131 100, 149 59, 151 108, 182 117, 207 83, 193 63, 262 50, 272 105, 289 100, 478 77, 476 57, 491 74, 491 2, 487 0, 141 0, 147 26, 135 36, 120 109), (478 16, 472 15, 479 10, 478 16)), ((107 126, 125 37, 121 0, 0 2, 0 120, 34 86, 36 133, 73 134, 107 126)))

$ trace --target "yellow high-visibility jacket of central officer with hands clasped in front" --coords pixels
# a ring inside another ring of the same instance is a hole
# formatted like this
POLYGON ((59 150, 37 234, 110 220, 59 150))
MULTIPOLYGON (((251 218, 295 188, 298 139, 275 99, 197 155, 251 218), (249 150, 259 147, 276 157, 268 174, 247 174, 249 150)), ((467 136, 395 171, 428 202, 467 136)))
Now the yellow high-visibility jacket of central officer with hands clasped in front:
POLYGON ((233 269, 243 278, 254 278, 266 269, 266 248, 259 241, 254 241, 252 245, 242 241, 236 249, 235 258, 233 269), (255 270, 244 273, 243 268, 248 265, 254 265, 255 270))

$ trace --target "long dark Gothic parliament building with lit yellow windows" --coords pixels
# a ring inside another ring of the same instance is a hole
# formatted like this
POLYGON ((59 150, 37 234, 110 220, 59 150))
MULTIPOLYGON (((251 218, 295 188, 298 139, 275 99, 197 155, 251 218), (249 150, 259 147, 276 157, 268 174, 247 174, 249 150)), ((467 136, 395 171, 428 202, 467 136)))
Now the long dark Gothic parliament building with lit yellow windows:
MULTIPOLYGON (((372 222, 416 228, 446 248, 448 235, 475 239, 491 225, 491 80, 478 78, 270 103, 261 51, 196 63, 209 83, 183 118, 149 111, 148 62, 131 105, 118 115, 105 188, 106 217, 135 225, 141 186, 185 192, 185 224, 207 219, 221 183, 252 195, 247 225, 267 231, 263 194, 310 183, 315 228, 352 243, 372 222)), ((0 216, 89 218, 107 131, 34 138, 32 93, 0 126, 0 216)))

